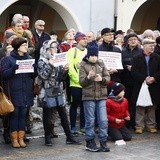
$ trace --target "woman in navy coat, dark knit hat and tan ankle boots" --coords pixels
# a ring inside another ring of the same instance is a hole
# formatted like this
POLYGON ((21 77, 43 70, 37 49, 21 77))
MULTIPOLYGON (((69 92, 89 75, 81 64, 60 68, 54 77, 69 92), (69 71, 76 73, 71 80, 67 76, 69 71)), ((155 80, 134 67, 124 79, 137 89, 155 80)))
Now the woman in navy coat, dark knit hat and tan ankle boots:
POLYGON ((33 79, 34 69, 31 73, 17 73, 19 68, 17 60, 28 60, 32 57, 27 53, 27 40, 15 38, 12 41, 13 51, 1 62, 4 89, 10 95, 15 107, 10 115, 11 141, 14 148, 26 147, 23 139, 25 136, 27 108, 33 105, 33 79))

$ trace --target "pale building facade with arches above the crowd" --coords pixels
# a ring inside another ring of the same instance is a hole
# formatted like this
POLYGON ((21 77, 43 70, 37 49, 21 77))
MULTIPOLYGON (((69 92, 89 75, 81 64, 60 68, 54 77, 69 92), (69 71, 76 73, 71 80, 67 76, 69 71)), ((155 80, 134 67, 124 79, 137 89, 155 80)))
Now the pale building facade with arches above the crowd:
POLYGON ((60 37, 69 28, 97 33, 104 27, 159 29, 159 0, 0 0, 0 36, 10 26, 15 13, 28 15, 31 28, 37 19, 46 22, 45 30, 60 37))

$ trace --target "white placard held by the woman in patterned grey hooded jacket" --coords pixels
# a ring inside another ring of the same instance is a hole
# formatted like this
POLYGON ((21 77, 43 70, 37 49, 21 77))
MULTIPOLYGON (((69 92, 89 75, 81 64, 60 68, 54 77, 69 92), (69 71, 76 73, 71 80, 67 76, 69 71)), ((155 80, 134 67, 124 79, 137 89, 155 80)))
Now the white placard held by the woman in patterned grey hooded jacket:
POLYGON ((54 66, 65 66, 67 64, 67 52, 63 53, 54 53, 53 59, 54 59, 54 66))

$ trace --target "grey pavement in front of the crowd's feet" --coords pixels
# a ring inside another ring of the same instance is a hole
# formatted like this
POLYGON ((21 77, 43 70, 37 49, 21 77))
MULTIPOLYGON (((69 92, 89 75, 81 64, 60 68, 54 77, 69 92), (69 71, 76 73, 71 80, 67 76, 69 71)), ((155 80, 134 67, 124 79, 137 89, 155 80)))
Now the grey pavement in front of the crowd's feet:
MULTIPOLYGON (((108 141, 110 152, 89 152, 85 150, 85 137, 79 135, 75 139, 81 140, 82 145, 65 144, 66 137, 62 127, 57 125, 58 138, 53 139, 53 146, 44 145, 43 128, 36 123, 33 132, 27 134, 30 142, 26 148, 15 149, 11 145, 4 144, 2 132, 0 132, 0 160, 159 160, 160 159, 160 131, 151 134, 145 131, 143 134, 135 134, 126 145, 117 146, 111 140, 108 141)), ((97 145, 99 145, 96 137, 97 145)))

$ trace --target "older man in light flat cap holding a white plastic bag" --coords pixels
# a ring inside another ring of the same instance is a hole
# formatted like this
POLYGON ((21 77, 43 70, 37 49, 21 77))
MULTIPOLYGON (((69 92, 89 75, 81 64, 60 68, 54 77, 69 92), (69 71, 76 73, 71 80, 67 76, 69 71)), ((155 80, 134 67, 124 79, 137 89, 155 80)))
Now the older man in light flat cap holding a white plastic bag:
POLYGON ((142 83, 148 85, 152 106, 137 106, 136 108, 136 130, 137 134, 144 131, 145 126, 150 133, 156 133, 155 108, 160 104, 160 56, 154 53, 155 41, 144 39, 142 42, 143 54, 133 57, 131 72, 135 80, 135 101, 140 92, 142 83))

